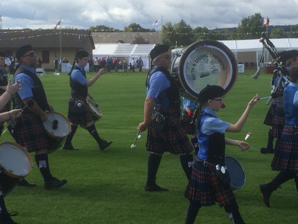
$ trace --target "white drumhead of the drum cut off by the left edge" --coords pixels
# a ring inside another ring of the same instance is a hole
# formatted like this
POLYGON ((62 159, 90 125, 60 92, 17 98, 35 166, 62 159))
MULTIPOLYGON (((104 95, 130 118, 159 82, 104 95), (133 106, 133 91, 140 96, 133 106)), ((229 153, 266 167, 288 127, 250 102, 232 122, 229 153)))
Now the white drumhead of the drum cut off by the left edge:
POLYGON ((26 176, 31 171, 31 162, 27 154, 10 143, 0 145, 0 164, 8 172, 17 176, 26 176))

